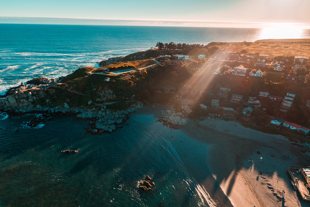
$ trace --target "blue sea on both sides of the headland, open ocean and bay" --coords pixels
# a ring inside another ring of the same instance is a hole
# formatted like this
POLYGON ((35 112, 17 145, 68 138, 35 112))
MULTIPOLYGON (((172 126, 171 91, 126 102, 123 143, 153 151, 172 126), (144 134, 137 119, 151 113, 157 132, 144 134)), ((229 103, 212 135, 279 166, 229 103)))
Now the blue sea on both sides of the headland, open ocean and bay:
MULTIPOLYGON (((65 76, 101 60, 148 50, 157 42, 252 42, 262 37, 262 29, 237 28, 0 24, 0 31, 2 94, 35 77, 65 76)), ((310 30, 300 36, 309 37, 310 30)), ((210 192, 179 158, 184 152, 139 116, 104 135, 86 134, 88 123, 72 117, 27 128, 33 116, 0 113, 0 206, 214 205, 210 192), (66 149, 79 152, 61 153, 66 149), (137 188, 145 175, 155 182, 147 192, 137 188)), ((164 133, 170 131, 164 128, 164 133)))

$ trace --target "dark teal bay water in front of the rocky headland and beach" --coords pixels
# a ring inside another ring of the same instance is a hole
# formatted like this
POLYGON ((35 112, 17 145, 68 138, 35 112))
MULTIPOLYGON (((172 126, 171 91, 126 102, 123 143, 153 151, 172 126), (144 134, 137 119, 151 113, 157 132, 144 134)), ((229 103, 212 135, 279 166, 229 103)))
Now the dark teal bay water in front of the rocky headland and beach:
POLYGON ((0 206, 207 206, 171 143, 141 122, 93 136, 70 117, 23 128, 30 118, 0 120, 0 206), (137 188, 145 175, 150 191, 137 188))

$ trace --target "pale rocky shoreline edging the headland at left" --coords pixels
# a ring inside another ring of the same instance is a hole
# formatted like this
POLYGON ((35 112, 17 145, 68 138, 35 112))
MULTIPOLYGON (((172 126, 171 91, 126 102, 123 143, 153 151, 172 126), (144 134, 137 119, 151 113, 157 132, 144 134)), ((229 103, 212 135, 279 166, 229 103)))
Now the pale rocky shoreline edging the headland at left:
MULTIPOLYGON (((131 112, 143 107, 143 104, 140 102, 121 111, 113 111, 105 105, 102 105, 101 108, 71 108, 66 102, 56 107, 46 107, 40 104, 34 105, 34 101, 44 98, 45 93, 43 89, 60 82, 60 79, 38 78, 29 82, 33 85, 21 84, 7 91, 5 97, 0 99, 0 111, 6 112, 9 116, 19 116, 27 113, 41 114, 27 124, 31 128, 35 128, 41 123, 51 121, 60 116, 70 116, 80 120, 89 120, 90 127, 85 128, 89 133, 111 133, 117 128, 122 127, 122 124, 126 122, 131 112), (42 84, 42 81, 44 84, 42 84)), ((47 99, 46 102, 48 103, 49 100, 47 99)))

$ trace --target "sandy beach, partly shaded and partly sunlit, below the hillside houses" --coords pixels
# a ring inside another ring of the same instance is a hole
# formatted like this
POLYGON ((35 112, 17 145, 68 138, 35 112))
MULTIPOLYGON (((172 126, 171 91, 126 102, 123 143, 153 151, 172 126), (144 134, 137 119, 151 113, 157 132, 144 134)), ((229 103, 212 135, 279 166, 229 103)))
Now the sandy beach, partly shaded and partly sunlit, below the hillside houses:
POLYGON ((309 206, 293 190, 286 174, 291 165, 308 167, 306 144, 214 119, 170 129, 156 122, 165 109, 147 105, 131 118, 173 145, 198 186, 209 192, 205 196, 214 206, 309 206))

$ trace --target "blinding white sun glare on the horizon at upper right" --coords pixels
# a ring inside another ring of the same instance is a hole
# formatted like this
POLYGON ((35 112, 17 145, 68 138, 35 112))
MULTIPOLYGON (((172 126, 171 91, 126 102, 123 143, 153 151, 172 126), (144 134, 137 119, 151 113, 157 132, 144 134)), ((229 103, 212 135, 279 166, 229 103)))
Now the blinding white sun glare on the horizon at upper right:
POLYGON ((259 39, 299 39, 302 37, 303 29, 298 27, 282 25, 277 27, 263 28, 259 39))

